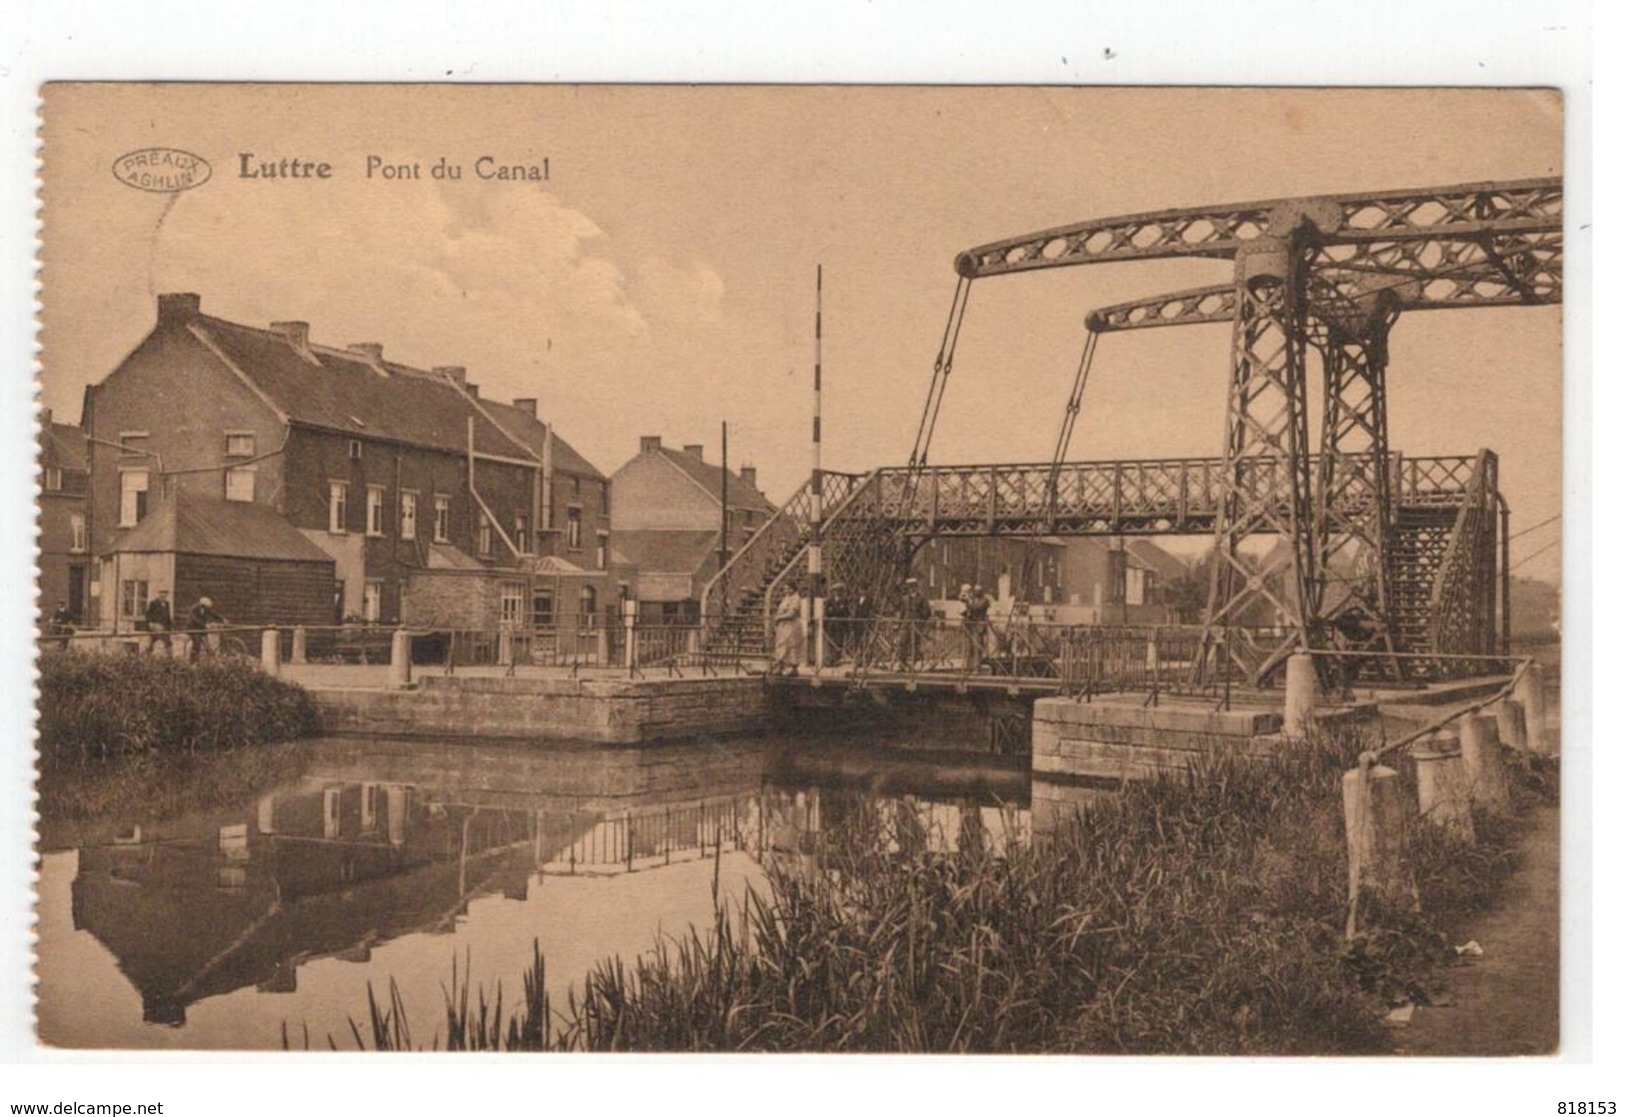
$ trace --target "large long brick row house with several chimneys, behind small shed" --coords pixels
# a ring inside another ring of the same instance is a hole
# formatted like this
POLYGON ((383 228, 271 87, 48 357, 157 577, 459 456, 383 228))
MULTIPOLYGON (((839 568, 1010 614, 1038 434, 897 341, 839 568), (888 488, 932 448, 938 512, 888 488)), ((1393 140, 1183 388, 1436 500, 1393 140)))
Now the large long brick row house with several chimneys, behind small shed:
POLYGON ((577 623, 616 597, 608 480, 535 400, 484 400, 462 367, 161 294, 151 333, 86 389, 84 429, 104 626, 132 616, 112 579, 124 541, 184 493, 262 504, 328 556, 330 621, 577 623))

